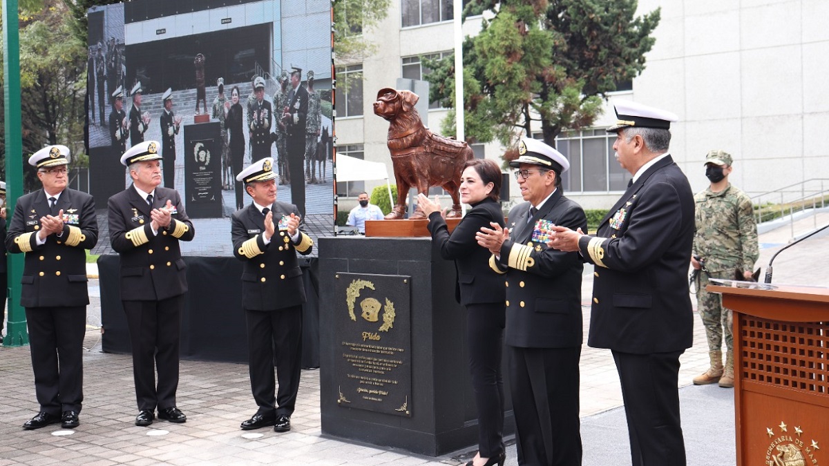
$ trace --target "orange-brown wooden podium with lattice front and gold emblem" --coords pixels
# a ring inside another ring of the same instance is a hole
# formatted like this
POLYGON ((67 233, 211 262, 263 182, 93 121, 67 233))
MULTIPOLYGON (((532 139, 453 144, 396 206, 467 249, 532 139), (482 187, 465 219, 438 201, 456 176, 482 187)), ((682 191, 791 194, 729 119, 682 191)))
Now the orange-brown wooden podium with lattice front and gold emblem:
POLYGON ((708 287, 734 311, 737 465, 829 465, 829 289, 754 286, 708 287))

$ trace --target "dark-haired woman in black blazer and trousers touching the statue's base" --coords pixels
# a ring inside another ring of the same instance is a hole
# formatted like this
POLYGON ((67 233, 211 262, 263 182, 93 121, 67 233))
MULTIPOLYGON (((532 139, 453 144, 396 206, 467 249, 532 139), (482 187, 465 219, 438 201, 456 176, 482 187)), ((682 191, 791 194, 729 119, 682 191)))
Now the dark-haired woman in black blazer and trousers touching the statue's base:
POLYGON ((490 222, 504 226, 498 197, 501 168, 488 159, 470 160, 461 175, 461 201, 472 206, 449 234, 440 205, 420 194, 418 206, 429 216, 429 231, 444 259, 458 270, 455 298, 467 308, 469 371, 478 407, 478 454, 467 466, 503 465, 506 459, 504 386, 501 353, 504 337, 504 282, 489 267, 490 253, 478 245, 475 233, 490 222))

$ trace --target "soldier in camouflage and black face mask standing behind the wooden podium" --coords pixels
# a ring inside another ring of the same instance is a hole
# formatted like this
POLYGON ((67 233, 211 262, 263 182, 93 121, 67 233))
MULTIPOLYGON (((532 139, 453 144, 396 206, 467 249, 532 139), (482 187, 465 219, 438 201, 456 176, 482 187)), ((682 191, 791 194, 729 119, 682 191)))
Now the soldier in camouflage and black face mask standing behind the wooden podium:
POLYGON ((759 256, 757 224, 751 199, 728 181, 732 158, 729 153, 715 150, 705 158, 705 176, 710 187, 694 197, 696 202, 696 233, 691 265, 696 274, 697 309, 708 337, 710 368, 694 378, 695 385, 719 382, 734 386, 734 356, 731 335, 731 310, 722 307, 720 294, 705 291, 708 279, 734 279, 739 270, 742 278, 751 279, 754 261, 759 256), (722 361, 722 340, 725 336, 725 367, 722 361))

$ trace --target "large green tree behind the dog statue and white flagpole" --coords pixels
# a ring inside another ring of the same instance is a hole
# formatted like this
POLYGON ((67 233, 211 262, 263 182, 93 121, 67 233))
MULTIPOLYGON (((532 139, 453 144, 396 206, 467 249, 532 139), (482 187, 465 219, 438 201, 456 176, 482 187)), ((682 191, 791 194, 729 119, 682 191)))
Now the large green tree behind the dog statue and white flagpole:
MULTIPOLYGON (((616 83, 642 73, 655 41, 659 8, 634 17, 636 7, 637 0, 473 0, 465 12, 494 17, 463 42, 466 138, 513 147, 540 124, 545 143, 555 147, 562 130, 593 124, 616 83)), ((447 108, 453 60, 425 61, 433 69, 426 75, 429 100, 447 108)), ((442 130, 455 133, 453 110, 442 130)))

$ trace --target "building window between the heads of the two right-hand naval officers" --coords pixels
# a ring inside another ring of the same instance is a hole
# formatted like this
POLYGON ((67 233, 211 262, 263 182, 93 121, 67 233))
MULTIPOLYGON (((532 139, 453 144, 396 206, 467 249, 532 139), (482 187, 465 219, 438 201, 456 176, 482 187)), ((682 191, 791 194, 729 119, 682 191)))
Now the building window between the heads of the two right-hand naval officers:
POLYGON ((563 131, 555 138, 555 148, 570 161, 570 170, 561 175, 561 185, 569 192, 624 191, 631 178, 613 157, 615 133, 604 129, 563 131))

